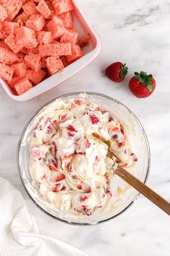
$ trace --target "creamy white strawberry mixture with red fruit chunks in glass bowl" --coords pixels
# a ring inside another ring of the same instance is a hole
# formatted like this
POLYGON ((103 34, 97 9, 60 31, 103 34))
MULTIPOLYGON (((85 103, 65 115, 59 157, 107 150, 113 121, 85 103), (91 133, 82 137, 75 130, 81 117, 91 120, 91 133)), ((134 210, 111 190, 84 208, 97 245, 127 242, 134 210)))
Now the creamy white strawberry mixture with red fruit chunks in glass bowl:
POLYGON ((30 138, 30 174, 40 195, 79 216, 104 209, 117 163, 129 168, 136 161, 123 124, 83 97, 50 103, 30 138))

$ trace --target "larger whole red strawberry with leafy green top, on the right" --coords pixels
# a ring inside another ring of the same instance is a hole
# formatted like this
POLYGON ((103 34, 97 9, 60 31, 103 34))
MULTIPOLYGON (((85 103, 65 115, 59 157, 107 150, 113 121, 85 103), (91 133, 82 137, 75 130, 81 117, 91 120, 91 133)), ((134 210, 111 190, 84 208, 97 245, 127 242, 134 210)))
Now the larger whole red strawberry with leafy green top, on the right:
POLYGON ((130 79, 129 88, 137 98, 146 98, 153 93, 156 88, 156 81, 152 74, 141 71, 134 73, 135 76, 130 79))

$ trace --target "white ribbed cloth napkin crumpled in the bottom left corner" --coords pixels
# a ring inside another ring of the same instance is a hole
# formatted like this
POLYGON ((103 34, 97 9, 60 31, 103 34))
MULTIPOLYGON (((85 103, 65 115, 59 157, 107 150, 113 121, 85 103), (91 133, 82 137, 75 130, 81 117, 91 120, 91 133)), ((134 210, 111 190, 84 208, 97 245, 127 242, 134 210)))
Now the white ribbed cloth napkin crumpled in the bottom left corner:
POLYGON ((6 179, 0 178, 1 256, 87 256, 79 249, 39 234, 24 199, 6 179))

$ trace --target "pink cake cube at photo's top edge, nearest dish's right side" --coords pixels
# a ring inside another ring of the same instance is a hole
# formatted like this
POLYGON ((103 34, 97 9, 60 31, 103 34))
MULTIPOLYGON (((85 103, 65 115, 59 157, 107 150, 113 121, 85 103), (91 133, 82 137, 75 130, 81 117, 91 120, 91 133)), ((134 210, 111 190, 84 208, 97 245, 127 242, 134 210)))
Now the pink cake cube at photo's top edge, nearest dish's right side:
POLYGON ((63 12, 68 12, 73 10, 73 4, 71 3, 71 0, 53 0, 52 3, 53 3, 53 9, 57 16, 59 14, 62 14, 63 12))

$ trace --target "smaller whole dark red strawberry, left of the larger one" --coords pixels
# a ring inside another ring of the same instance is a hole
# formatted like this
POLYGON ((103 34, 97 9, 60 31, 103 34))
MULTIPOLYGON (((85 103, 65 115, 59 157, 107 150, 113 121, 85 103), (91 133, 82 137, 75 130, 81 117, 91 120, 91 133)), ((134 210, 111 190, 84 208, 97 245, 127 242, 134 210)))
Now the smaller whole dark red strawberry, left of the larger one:
POLYGON ((128 67, 122 62, 114 62, 105 70, 106 76, 114 82, 122 82, 128 74, 128 67))

